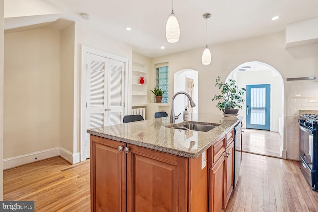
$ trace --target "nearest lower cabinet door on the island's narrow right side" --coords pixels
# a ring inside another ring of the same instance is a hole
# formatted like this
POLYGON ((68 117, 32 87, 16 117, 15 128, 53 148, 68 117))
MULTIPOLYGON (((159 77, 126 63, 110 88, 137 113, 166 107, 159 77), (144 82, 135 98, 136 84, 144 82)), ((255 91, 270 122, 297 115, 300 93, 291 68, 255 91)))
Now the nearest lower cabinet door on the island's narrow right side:
POLYGON ((225 157, 209 170, 209 212, 223 212, 225 209, 225 157))

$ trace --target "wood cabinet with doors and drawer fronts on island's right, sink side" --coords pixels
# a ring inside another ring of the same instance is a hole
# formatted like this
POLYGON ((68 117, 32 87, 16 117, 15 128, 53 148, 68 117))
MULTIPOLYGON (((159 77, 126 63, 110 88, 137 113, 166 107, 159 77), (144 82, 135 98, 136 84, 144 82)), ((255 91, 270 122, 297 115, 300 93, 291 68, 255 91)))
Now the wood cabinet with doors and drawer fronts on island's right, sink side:
POLYGON ((208 149, 209 212, 223 212, 233 191, 234 133, 225 134, 208 149))

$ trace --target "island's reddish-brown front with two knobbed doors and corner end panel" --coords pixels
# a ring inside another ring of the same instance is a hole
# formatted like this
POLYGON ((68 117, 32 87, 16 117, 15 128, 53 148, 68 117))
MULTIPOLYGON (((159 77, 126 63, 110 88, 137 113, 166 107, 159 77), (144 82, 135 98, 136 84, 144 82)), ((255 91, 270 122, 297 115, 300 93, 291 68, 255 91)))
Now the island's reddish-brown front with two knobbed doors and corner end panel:
POLYGON ((208 169, 201 169, 201 156, 184 158, 93 135, 90 147, 92 212, 206 212, 208 169))

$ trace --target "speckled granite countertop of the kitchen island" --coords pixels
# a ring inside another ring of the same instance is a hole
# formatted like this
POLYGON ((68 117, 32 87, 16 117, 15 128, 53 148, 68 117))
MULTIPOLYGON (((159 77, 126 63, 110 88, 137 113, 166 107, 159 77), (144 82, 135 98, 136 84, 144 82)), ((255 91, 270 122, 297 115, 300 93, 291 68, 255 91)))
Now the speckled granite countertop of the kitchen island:
MULTIPOLYGON (((87 133, 182 157, 197 158, 242 119, 241 116, 193 114, 191 121, 187 121, 218 125, 208 132, 165 127, 170 125, 170 117, 163 117, 88 129, 87 133)), ((180 125, 181 122, 183 120, 179 118, 173 125, 180 125)))

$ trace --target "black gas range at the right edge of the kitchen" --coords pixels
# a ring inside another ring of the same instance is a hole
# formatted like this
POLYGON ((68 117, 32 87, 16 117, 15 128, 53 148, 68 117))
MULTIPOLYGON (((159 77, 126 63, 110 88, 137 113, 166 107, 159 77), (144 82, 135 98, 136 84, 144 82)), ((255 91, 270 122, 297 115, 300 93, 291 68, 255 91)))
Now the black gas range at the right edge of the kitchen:
POLYGON ((312 189, 318 191, 318 114, 302 114, 298 122, 300 169, 312 189))

